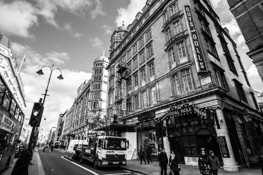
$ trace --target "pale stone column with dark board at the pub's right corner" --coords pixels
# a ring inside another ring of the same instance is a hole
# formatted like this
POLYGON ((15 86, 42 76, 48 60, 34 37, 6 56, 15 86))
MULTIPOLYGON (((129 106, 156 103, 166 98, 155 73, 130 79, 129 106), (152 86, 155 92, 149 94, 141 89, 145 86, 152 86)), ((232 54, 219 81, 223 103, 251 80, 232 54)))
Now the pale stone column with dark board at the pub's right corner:
POLYGON ((239 169, 235 163, 234 153, 233 153, 232 145, 231 145, 230 138, 228 135, 227 127, 225 124, 222 107, 216 108, 215 112, 216 112, 216 115, 217 115, 217 118, 220 124, 220 129, 217 129, 217 127, 215 128, 216 134, 217 136, 225 136, 226 144, 227 144, 229 155, 230 155, 230 158, 222 157, 223 163, 224 163, 223 168, 224 170, 227 170, 227 171, 238 172, 239 169))

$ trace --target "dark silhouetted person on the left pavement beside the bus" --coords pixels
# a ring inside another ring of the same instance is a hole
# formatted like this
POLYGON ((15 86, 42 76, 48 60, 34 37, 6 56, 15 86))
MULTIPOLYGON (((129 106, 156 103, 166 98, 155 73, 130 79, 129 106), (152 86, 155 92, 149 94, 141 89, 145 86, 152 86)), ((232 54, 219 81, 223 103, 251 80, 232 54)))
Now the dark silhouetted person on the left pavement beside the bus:
POLYGON ((29 162, 30 162, 30 151, 28 143, 21 143, 19 146, 20 156, 17 160, 11 175, 28 175, 29 162))

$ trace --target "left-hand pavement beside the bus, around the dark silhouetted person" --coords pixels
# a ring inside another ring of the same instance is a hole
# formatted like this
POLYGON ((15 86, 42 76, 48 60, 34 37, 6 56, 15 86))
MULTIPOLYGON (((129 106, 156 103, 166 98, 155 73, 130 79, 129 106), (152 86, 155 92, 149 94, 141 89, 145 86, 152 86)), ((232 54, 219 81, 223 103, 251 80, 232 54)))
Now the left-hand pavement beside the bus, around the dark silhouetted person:
MULTIPOLYGON (((6 169, 3 175, 10 175, 18 158, 14 159, 14 162, 6 169)), ((40 156, 38 153, 38 148, 36 147, 34 150, 32 164, 29 165, 29 175, 45 175, 40 156)))

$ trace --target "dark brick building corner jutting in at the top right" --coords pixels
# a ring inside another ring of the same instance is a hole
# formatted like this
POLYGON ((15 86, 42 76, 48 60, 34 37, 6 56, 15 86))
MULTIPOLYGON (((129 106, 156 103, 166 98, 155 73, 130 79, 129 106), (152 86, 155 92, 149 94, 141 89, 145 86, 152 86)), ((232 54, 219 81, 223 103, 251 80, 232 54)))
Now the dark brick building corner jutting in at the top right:
POLYGON ((227 0, 263 81, 263 0, 227 0))

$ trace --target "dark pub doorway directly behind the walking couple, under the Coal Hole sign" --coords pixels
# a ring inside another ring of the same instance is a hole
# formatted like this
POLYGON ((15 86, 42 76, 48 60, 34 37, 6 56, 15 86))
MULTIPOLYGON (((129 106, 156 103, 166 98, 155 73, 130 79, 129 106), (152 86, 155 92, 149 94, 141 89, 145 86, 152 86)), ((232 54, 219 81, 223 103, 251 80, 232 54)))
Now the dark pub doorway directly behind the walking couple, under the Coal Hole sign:
POLYGON ((181 148, 181 141, 180 141, 180 135, 177 132, 172 132, 170 134, 170 148, 171 150, 174 150, 177 157, 180 159, 181 162, 184 163, 184 158, 182 156, 182 148, 181 148))

